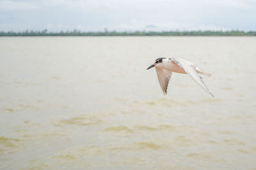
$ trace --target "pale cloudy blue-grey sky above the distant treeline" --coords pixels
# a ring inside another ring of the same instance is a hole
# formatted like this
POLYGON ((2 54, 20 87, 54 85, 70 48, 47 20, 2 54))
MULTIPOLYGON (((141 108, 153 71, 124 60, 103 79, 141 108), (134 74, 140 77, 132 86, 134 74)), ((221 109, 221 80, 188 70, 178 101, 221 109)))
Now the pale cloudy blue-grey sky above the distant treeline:
POLYGON ((256 31, 256 0, 0 0, 0 31, 256 31))

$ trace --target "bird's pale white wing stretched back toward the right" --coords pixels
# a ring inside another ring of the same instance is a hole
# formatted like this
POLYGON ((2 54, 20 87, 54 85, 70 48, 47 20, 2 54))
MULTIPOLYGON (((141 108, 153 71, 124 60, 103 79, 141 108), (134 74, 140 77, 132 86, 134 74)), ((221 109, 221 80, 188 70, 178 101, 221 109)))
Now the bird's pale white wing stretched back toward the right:
POLYGON ((186 60, 183 59, 177 59, 177 58, 173 58, 173 62, 175 62, 176 64, 178 64, 182 69, 184 69, 184 71, 189 74, 189 76, 196 81, 196 83, 198 83, 198 85, 200 85, 206 92, 208 92, 209 94, 211 94, 212 97, 213 94, 210 92, 210 90, 206 87, 204 81, 202 80, 202 77, 199 76, 196 73, 195 70, 195 66, 194 64, 192 64, 191 62, 188 62, 186 60))

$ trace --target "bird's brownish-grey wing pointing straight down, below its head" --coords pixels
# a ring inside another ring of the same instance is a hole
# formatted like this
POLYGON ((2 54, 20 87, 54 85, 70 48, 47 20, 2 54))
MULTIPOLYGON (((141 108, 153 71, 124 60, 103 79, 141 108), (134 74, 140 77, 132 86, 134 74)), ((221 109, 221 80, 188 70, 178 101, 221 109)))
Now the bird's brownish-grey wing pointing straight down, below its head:
POLYGON ((167 71, 166 69, 161 69, 159 67, 156 67, 156 73, 157 73, 157 78, 160 83, 161 89, 163 90, 164 94, 167 94, 167 87, 169 80, 172 76, 171 71, 167 71))

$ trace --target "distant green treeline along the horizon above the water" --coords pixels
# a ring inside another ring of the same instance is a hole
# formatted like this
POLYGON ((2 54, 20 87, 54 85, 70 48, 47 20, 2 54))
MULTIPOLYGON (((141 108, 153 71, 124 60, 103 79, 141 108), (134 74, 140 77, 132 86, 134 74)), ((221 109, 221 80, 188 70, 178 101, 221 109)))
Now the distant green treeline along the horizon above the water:
POLYGON ((81 32, 66 31, 66 32, 48 32, 47 29, 43 31, 22 31, 0 32, 0 36, 256 36, 256 31, 134 31, 134 32, 116 32, 116 31, 102 31, 102 32, 81 32))

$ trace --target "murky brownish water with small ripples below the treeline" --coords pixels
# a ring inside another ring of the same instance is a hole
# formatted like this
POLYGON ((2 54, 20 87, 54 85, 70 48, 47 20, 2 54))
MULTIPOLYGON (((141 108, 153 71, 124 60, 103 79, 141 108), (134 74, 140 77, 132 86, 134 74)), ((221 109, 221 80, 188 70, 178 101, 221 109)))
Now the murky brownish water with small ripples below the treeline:
POLYGON ((256 38, 0 38, 0 169, 256 169, 256 38), (158 57, 185 74, 164 96, 158 57))

